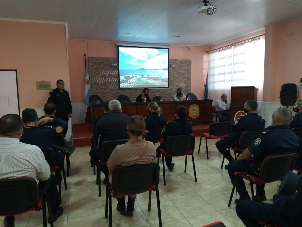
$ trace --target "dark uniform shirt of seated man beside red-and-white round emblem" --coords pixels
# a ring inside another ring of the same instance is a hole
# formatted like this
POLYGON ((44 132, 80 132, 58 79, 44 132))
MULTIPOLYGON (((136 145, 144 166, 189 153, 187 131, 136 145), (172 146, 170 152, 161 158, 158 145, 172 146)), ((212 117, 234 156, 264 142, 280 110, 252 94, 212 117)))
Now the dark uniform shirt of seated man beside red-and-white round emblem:
POLYGON ((230 132, 227 134, 229 141, 236 140, 244 131, 255 131, 263 129, 262 117, 257 113, 249 113, 246 116, 240 117, 231 124, 230 132))

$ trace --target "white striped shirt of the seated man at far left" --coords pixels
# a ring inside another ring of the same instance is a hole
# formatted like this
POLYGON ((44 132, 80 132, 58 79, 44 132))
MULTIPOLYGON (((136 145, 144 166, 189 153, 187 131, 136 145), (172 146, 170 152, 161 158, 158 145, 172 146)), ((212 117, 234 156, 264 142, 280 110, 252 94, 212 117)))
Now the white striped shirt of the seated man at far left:
POLYGON ((37 183, 49 179, 50 169, 43 152, 18 138, 0 137, 0 179, 21 176, 32 177, 37 183))

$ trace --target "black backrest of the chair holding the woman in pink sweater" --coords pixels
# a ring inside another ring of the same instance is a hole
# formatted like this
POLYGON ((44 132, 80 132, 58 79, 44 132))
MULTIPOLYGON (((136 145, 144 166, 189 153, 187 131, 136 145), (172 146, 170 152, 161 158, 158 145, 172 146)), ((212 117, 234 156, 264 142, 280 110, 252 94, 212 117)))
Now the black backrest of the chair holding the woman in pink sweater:
POLYGON ((139 194, 153 186, 158 189, 159 164, 152 162, 133 166, 117 166, 112 170, 111 185, 114 195, 117 192, 139 194))

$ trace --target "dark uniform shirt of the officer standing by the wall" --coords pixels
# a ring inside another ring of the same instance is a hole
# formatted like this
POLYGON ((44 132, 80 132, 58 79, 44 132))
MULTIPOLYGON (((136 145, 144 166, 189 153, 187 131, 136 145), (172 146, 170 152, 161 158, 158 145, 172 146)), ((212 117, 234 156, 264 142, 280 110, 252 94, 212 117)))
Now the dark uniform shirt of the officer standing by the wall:
POLYGON ((58 113, 72 113, 69 93, 64 89, 63 92, 58 88, 51 90, 48 94, 47 102, 53 102, 56 104, 56 115, 58 113))

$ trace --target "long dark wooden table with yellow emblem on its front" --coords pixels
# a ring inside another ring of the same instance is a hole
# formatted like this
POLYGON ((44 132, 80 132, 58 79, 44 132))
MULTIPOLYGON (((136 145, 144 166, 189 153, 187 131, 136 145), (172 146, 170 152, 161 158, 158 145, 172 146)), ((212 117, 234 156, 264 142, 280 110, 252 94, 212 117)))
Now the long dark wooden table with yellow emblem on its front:
MULTIPOLYGON (((175 108, 183 105, 188 110, 188 119, 193 125, 203 125, 212 123, 212 99, 193 100, 193 101, 167 101, 156 102, 162 108, 162 115, 168 121, 175 119, 175 108)), ((92 104, 91 115, 92 119, 103 114, 103 104, 92 104)), ((121 103, 122 112, 130 116, 139 114, 143 117, 148 115, 148 103, 146 102, 131 102, 121 103)))

